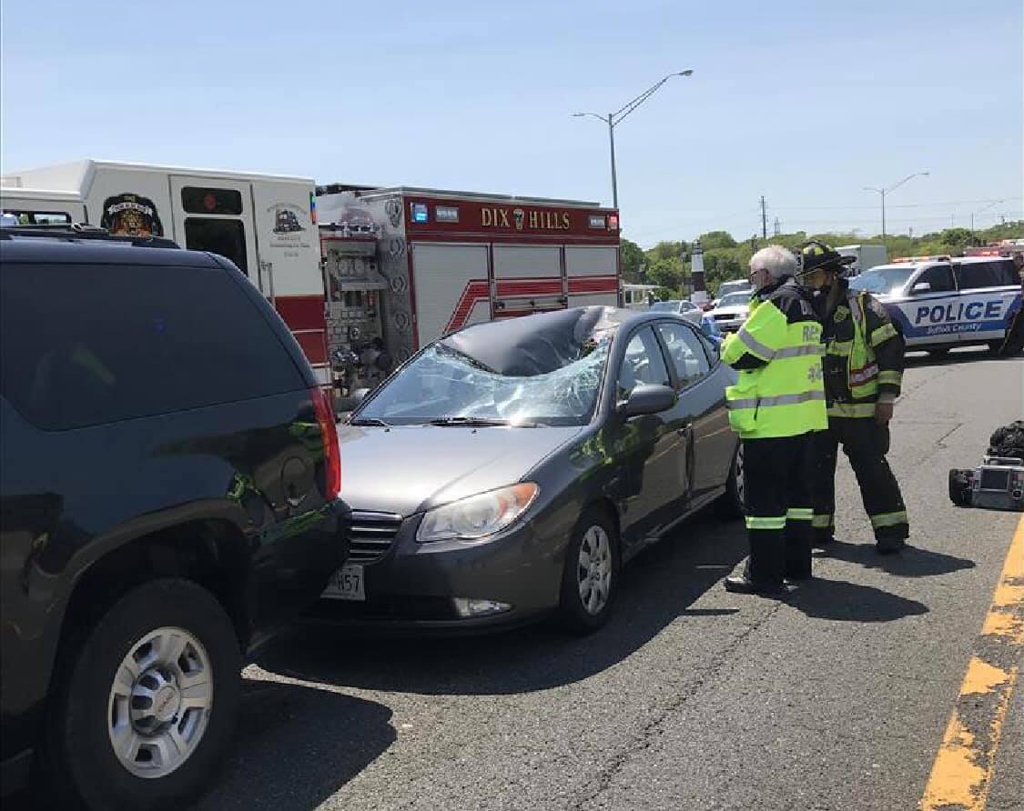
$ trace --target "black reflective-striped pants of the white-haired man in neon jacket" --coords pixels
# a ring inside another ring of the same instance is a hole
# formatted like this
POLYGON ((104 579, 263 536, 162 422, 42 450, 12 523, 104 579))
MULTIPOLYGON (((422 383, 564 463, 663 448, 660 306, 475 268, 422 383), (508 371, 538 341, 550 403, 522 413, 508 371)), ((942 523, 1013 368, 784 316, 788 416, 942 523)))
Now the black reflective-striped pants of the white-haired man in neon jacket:
POLYGON ((743 440, 746 576, 759 585, 811 576, 811 436, 743 440))

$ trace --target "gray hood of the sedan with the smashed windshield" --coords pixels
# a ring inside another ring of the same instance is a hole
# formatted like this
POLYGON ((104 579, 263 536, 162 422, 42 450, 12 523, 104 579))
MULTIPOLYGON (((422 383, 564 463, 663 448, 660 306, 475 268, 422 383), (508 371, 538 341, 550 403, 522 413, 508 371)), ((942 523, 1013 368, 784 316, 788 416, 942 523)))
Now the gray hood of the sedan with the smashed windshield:
POLYGON ((341 497, 352 509, 412 515, 519 482, 583 430, 344 425, 341 497))

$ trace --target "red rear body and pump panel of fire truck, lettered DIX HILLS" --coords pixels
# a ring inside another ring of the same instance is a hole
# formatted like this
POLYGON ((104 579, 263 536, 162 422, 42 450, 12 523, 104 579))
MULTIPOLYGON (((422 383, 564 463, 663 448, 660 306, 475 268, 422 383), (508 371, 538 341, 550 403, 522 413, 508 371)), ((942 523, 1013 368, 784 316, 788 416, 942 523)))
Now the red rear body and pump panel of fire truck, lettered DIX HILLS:
POLYGON ((618 301, 618 213, 425 188, 317 188, 328 345, 346 392, 469 324, 618 301))

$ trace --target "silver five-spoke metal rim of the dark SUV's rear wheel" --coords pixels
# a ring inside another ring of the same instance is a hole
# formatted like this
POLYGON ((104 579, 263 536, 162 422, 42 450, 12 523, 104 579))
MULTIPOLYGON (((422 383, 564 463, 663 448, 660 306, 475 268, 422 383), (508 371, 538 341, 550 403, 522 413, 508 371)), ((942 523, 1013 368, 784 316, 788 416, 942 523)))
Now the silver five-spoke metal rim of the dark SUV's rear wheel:
POLYGON ((196 751, 210 721, 213 668, 182 628, 145 634, 118 665, 108 732, 121 765, 136 777, 165 777, 196 751))

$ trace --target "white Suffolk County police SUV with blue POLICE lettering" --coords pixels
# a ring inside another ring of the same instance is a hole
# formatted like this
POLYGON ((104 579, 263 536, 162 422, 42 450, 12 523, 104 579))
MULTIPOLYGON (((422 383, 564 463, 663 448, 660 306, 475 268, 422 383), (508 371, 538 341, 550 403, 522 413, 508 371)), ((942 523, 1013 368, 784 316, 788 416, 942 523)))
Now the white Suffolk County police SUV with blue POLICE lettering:
POLYGON ((942 355, 987 344, 996 353, 1021 309, 1021 280, 1001 257, 909 257, 878 265, 850 281, 874 296, 907 349, 942 355))

